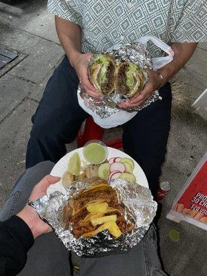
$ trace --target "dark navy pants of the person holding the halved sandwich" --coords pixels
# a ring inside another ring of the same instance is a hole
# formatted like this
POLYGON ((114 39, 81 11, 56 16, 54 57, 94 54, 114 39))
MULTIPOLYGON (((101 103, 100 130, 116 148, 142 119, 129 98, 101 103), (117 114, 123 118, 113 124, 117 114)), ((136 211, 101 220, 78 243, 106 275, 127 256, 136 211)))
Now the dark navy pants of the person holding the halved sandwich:
MULTIPOLYGON (((63 58, 48 81, 37 111, 32 117, 32 131, 26 154, 26 168, 50 160, 57 163, 66 154, 65 144, 72 142, 88 114, 77 101, 79 79, 63 58)), ((166 154, 170 130, 171 89, 166 83, 156 101, 124 124, 124 151, 146 173, 152 194, 157 193, 161 164, 166 154)))

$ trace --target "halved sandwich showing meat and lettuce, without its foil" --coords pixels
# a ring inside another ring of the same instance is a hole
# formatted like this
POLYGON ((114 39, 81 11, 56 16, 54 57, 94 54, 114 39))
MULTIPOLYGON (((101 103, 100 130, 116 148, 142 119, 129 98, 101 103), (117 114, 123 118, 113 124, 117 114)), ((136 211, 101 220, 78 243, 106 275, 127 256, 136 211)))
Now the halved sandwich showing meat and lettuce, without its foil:
POLYGON ((143 70, 133 62, 120 61, 108 54, 95 54, 89 62, 90 80, 97 91, 110 95, 117 90, 126 97, 140 92, 146 82, 143 70))

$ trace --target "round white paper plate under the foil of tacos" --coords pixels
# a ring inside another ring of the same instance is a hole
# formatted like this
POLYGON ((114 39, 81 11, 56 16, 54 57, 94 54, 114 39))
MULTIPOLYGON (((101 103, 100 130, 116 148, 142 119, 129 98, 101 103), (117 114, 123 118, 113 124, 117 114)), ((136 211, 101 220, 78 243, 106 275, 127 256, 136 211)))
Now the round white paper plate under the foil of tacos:
MULTIPOLYGON (((71 152, 68 152, 67 155, 65 155, 63 158, 61 158, 57 162, 57 164, 55 164, 54 168, 52 168, 50 175, 53 175, 55 177, 63 177, 63 173, 66 172, 66 170, 68 169, 68 161, 69 161, 70 157, 73 155, 73 153, 75 153, 75 152, 79 153, 81 163, 86 162, 83 157, 83 153, 82 153, 83 148, 77 148, 76 150, 72 150, 71 152)), ((121 150, 117 150, 115 148, 108 147, 108 159, 110 159, 111 157, 121 157, 121 158, 128 157, 128 158, 132 159, 132 157, 130 157, 129 155, 126 155, 126 153, 122 152, 121 150)), ((135 177, 137 179, 137 184, 148 188, 148 181, 146 179, 144 171, 141 169, 139 164, 137 164, 137 162, 134 159, 132 159, 132 160, 135 162, 135 170, 133 171, 133 174, 135 175, 135 177)), ((50 185, 50 187, 47 190, 48 195, 50 193, 55 192, 55 190, 59 190, 59 192, 66 194, 66 190, 63 187, 61 180, 54 185, 50 185)))

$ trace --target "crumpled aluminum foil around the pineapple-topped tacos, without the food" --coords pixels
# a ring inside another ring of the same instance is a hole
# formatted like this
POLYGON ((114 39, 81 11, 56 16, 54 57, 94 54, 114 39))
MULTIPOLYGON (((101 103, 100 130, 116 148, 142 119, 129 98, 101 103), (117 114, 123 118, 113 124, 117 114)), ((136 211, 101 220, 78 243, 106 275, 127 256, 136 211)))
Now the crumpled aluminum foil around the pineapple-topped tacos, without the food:
POLYGON ((72 233, 72 225, 68 229, 63 224, 63 206, 83 188, 89 188, 91 184, 86 179, 75 181, 67 189, 67 195, 59 191, 45 195, 37 201, 30 202, 39 213, 39 217, 46 221, 55 230, 68 250, 74 251, 81 257, 102 257, 105 255, 124 253, 132 246, 137 245, 147 232, 157 210, 157 203, 153 200, 150 190, 138 184, 128 183, 125 179, 115 179, 110 186, 116 188, 119 203, 126 206, 124 217, 133 224, 132 233, 121 235, 114 239, 108 230, 98 235, 86 238, 75 238, 72 233))

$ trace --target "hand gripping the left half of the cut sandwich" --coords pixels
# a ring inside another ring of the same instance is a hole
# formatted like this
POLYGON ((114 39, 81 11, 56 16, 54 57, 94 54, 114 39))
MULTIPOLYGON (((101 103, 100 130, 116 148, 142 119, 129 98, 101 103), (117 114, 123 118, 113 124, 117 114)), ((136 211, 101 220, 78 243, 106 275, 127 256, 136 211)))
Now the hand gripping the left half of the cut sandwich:
POLYGON ((101 98, 102 95, 95 90, 95 87, 92 86, 92 83, 90 83, 90 79, 88 77, 88 61, 91 56, 92 53, 90 52, 87 54, 78 54, 75 60, 72 61, 72 66, 75 68, 79 81, 81 82, 84 90, 86 90, 86 93, 92 97, 101 98))

